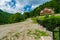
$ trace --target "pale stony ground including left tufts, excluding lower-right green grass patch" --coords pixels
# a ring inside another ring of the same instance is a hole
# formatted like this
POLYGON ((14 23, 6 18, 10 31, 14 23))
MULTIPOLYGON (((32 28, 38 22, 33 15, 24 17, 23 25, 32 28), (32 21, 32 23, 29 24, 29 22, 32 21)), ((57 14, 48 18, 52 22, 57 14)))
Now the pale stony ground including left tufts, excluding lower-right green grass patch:
POLYGON ((0 40, 53 40, 52 32, 46 30, 43 26, 32 23, 31 19, 27 19, 24 22, 0 25, 0 40), (34 36, 28 36, 27 32, 35 29, 44 31, 48 36, 41 36, 39 39, 35 39, 34 36))

